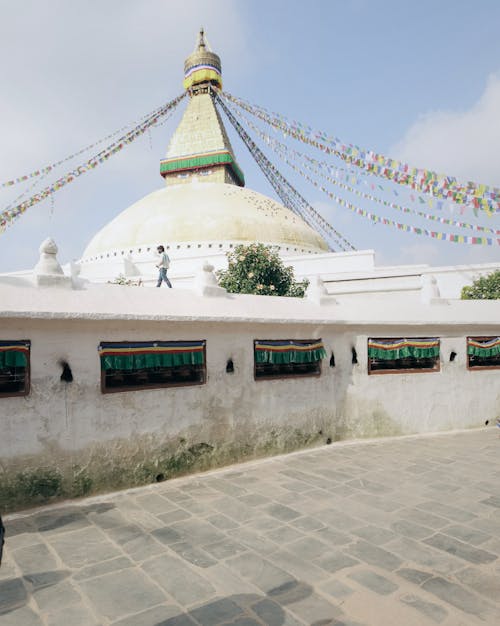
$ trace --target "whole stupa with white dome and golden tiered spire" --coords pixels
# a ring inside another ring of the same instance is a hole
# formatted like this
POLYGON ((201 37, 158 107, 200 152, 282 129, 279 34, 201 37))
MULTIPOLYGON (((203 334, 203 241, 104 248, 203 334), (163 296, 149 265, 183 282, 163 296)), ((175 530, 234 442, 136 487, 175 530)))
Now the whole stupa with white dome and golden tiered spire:
POLYGON ((164 188, 96 233, 79 261, 82 276, 154 279, 160 243, 173 261, 169 274, 177 284, 189 283, 207 258, 223 267, 226 253, 241 243, 274 245, 284 257, 328 253, 326 241, 299 216, 245 187, 213 99, 213 90, 222 89, 220 58, 203 29, 184 64, 184 88, 189 102, 160 163, 164 188))

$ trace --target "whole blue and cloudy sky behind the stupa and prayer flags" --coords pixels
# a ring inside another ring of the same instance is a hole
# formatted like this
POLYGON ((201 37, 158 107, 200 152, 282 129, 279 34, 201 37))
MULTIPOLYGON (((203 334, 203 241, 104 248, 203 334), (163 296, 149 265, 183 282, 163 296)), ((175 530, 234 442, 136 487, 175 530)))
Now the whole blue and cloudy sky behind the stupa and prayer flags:
MULTIPOLYGON (((229 93, 413 166, 500 187, 498 0, 0 0, 0 183, 180 95, 200 26, 229 93)), ((33 267, 48 236, 62 263, 78 259, 102 226, 161 188, 159 161, 180 114, 29 208, 0 234, 0 272, 33 267)), ((275 197, 245 146, 231 140, 247 186, 275 197)), ((357 249, 375 250, 377 265, 500 262, 499 246, 373 225, 282 169, 357 249)), ((0 210, 25 190, 0 189, 0 210)), ((456 211, 448 217, 474 221, 456 211)), ((390 208, 376 212, 405 221, 390 208)), ((478 223, 500 229, 498 214, 478 223)))

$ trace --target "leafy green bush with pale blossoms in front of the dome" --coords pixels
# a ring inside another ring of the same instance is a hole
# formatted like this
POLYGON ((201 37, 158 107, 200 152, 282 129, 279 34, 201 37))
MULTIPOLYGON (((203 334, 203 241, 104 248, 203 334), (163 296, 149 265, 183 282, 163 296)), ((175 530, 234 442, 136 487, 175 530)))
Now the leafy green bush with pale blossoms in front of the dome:
POLYGON ((308 280, 296 282, 293 267, 285 267, 275 246, 239 245, 227 253, 228 269, 219 270, 219 285, 230 293, 303 298, 308 280))

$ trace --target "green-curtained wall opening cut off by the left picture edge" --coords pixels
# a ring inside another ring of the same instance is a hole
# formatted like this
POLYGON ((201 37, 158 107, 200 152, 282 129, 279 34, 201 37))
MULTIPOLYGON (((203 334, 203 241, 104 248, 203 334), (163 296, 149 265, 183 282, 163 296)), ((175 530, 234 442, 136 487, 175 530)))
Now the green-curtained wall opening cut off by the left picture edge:
POLYGON ((27 339, 0 340, 0 397, 29 394, 30 348, 27 339))

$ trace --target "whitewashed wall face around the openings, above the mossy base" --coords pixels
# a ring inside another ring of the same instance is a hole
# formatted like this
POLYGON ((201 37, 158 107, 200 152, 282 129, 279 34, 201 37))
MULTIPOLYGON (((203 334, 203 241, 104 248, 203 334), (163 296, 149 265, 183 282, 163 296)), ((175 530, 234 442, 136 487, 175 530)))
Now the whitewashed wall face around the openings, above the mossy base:
POLYGON ((317 428, 326 440, 480 426, 500 413, 500 371, 467 370, 467 334, 466 328, 349 329, 334 323, 4 321, 5 338, 31 340, 31 393, 0 399, 0 456, 77 451, 137 435, 218 442, 265 437, 273 428, 317 428), (441 371, 369 376, 370 335, 440 336, 441 371), (323 339, 328 356, 334 351, 334 368, 325 359, 318 378, 254 380, 255 338, 315 337, 323 339), (102 394, 99 342, 154 339, 206 339, 207 383, 102 394), (450 362, 452 350, 457 357, 450 362), (234 374, 225 371, 228 358, 234 374), (61 359, 72 369, 72 383, 60 380, 61 359))

